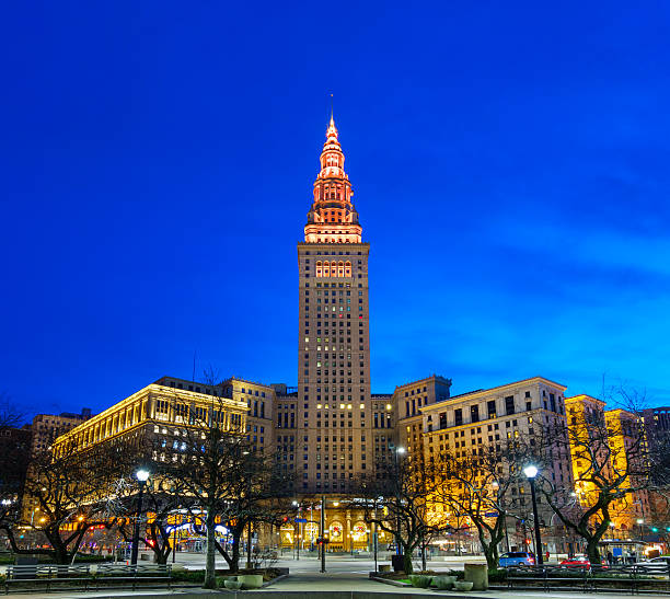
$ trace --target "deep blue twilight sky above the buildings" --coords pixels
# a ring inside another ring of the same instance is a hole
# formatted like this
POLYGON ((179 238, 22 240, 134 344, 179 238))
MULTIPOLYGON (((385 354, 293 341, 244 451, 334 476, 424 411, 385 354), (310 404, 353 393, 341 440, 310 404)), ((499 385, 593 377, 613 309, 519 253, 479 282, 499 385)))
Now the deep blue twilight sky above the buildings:
POLYGON ((670 403, 670 4, 14 2, 0 391, 297 380, 328 93, 370 256, 372 388, 602 376, 670 403))

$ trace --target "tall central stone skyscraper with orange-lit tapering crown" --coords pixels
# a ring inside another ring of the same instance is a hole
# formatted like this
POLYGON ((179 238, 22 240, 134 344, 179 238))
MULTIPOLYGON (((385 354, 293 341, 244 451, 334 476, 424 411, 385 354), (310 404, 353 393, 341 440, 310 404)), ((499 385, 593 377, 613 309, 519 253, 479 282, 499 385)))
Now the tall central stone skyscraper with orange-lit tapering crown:
POLYGON ((299 339, 296 488, 346 491, 373 469, 370 436, 368 254, 331 116, 298 244, 299 339), (301 426, 302 425, 302 426, 301 426), (300 451, 302 449, 303 451, 300 451), (302 461, 302 463, 300 463, 302 461))

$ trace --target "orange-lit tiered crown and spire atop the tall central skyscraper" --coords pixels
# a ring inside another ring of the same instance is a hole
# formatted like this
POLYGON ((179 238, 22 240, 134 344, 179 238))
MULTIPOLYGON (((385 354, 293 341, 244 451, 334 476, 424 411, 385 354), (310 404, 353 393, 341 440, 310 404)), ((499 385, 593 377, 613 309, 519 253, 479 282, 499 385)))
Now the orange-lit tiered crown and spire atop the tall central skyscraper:
POLYGON ((344 171, 344 153, 331 115, 321 152, 321 171, 314 182, 314 203, 308 212, 308 243, 360 243, 361 227, 351 204, 351 183, 344 171))

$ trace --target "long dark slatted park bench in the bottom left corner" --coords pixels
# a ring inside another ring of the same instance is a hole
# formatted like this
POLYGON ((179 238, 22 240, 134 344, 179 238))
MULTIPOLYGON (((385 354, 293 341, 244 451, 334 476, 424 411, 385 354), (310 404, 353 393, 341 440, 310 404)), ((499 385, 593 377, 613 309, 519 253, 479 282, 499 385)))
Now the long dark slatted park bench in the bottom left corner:
POLYGON ((170 564, 36 564, 8 566, 4 594, 10 586, 39 585, 46 592, 57 587, 78 590, 99 590, 100 587, 128 585, 132 590, 138 585, 155 586, 168 584, 172 588, 172 565, 170 564))

